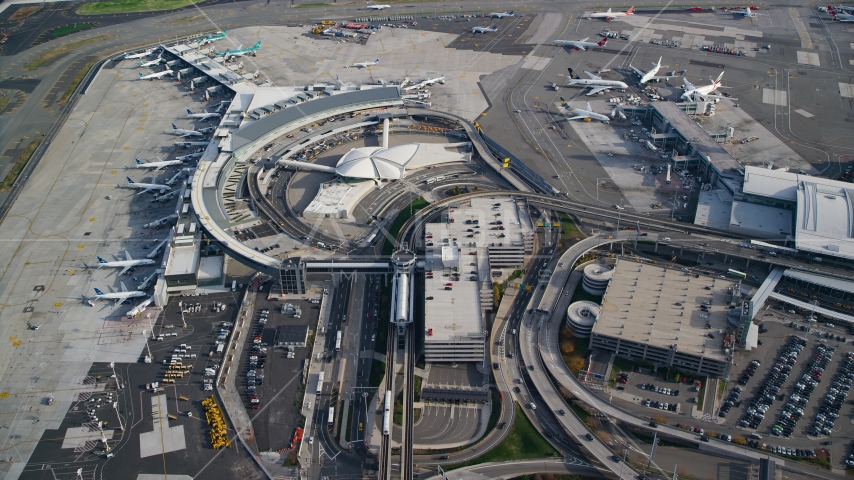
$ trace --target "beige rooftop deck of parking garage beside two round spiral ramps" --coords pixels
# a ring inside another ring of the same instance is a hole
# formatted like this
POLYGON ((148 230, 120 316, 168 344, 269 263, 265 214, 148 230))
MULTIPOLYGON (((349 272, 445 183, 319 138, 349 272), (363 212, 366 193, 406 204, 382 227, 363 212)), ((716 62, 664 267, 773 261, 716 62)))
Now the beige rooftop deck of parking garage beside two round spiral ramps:
POLYGON ((723 335, 736 282, 617 259, 593 333, 726 360, 723 335), (708 289, 707 289, 708 288, 708 289), (710 302, 703 311, 703 302, 710 302), (709 323, 711 328, 706 328, 709 323), (715 338, 710 338, 712 333, 715 338))

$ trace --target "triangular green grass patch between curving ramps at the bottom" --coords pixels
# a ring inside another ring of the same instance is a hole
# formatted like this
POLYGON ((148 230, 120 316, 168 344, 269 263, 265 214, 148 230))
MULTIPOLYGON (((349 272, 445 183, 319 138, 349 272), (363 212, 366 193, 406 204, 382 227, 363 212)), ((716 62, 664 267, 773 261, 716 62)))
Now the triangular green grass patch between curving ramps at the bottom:
POLYGON ((521 460, 525 458, 545 458, 558 456, 558 452, 549 445, 549 442, 540 435, 539 432, 525 416, 522 407, 516 404, 516 420, 513 422, 507 436, 492 450, 485 454, 469 460, 468 462, 458 463, 446 470, 453 468, 466 467, 469 465, 477 465, 489 462, 505 462, 510 460, 521 460))

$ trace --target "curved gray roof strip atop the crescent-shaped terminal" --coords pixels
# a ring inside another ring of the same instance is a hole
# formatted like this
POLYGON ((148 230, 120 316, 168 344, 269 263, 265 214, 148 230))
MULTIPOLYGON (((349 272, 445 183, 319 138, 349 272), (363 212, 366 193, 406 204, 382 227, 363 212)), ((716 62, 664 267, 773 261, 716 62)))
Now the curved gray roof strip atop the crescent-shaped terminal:
POLYGON ((232 148, 252 143, 276 128, 298 121, 300 118, 316 115, 326 110, 372 102, 400 100, 397 87, 371 88, 356 92, 347 92, 330 97, 318 98, 299 103, 284 110, 262 117, 256 122, 241 128, 233 135, 232 148))

